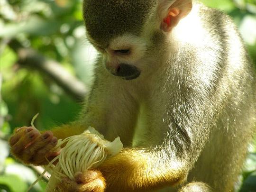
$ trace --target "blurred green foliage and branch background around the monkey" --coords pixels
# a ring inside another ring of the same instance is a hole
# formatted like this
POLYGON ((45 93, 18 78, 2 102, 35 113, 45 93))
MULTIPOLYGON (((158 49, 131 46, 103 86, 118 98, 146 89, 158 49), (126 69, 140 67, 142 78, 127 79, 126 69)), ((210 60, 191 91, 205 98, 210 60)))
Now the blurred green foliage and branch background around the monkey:
MULTIPOLYGON (((234 19, 256 64, 256 0, 201 1, 234 19)), ((29 126, 38 112, 40 130, 75 120, 95 55, 82 0, 0 0, 0 192, 25 192, 42 172, 9 154, 13 129, 29 126)), ((236 191, 256 192, 256 145, 249 151, 236 191)), ((31 192, 43 192, 46 181, 31 192)))

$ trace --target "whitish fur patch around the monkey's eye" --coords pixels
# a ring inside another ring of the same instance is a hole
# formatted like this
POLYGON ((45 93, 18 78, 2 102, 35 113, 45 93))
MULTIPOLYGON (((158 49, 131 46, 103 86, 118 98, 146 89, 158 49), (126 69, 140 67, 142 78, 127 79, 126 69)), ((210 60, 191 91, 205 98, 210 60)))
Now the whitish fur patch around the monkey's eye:
POLYGON ((129 49, 130 54, 124 55, 129 61, 137 61, 142 58, 146 52, 146 41, 141 38, 131 34, 125 34, 119 37, 115 37, 111 40, 110 50, 122 50, 129 49))

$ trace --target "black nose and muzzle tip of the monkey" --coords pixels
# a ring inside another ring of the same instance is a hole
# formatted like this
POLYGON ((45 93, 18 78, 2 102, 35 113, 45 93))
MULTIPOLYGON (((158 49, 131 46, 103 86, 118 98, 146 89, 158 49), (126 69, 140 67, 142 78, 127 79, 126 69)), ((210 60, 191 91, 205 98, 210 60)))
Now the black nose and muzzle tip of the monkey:
POLYGON ((140 75, 140 71, 134 65, 130 64, 119 64, 115 70, 112 72, 113 75, 122 77, 125 80, 136 79, 140 75))

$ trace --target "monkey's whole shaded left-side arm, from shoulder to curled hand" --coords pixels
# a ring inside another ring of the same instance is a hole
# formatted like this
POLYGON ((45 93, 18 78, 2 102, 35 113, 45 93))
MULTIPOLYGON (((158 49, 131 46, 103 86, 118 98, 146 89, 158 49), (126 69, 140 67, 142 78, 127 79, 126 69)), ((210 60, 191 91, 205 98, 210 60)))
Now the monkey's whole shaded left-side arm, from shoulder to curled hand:
POLYGON ((130 143, 137 104, 130 101, 130 96, 122 94, 124 86, 121 83, 109 74, 107 77, 104 75, 107 73, 104 68, 96 70, 99 75, 87 96, 80 119, 43 133, 32 127, 18 128, 9 139, 11 153, 16 158, 25 164, 45 165, 48 163, 45 157, 57 155, 50 152, 56 146, 57 139, 81 134, 89 126, 96 128, 110 141, 120 136, 124 145, 130 143))

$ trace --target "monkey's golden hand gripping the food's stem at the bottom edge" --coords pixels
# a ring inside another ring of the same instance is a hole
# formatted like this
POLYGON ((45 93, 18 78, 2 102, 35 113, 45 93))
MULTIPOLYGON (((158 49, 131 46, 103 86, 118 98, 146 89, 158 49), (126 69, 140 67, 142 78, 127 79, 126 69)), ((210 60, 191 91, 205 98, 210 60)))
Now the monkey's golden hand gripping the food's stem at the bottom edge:
POLYGON ((58 192, 104 192, 105 179, 100 171, 77 172, 75 181, 65 177, 57 185, 58 192))

